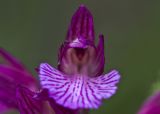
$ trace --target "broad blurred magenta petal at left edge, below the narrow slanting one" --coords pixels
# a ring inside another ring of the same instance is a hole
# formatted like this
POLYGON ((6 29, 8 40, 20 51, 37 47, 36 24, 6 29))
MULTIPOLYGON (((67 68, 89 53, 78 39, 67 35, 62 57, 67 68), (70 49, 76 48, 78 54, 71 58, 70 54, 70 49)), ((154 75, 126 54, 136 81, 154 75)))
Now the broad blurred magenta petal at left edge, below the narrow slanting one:
POLYGON ((15 91, 17 85, 24 85, 35 89, 35 79, 18 69, 0 65, 0 112, 6 109, 17 108, 15 91), (3 107, 2 107, 3 106, 3 107))

